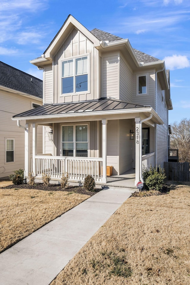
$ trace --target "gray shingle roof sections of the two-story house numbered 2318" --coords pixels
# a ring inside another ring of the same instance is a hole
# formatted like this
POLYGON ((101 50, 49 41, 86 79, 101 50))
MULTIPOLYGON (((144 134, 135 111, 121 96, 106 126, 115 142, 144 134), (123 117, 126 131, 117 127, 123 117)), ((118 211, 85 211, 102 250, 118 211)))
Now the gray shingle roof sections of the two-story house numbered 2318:
MULTIPOLYGON (((118 41, 120 39, 123 39, 121 37, 115 36, 113 34, 109 34, 107 32, 101 31, 99 29, 93 29, 90 31, 99 41, 109 41, 109 42, 114 42, 118 41)), ((139 62, 144 62, 144 63, 149 63, 153 61, 159 61, 160 59, 155 58, 153 56, 148 55, 147 53, 143 53, 140 50, 136 50, 135 48, 133 49, 135 55, 137 56, 137 59, 139 62)))

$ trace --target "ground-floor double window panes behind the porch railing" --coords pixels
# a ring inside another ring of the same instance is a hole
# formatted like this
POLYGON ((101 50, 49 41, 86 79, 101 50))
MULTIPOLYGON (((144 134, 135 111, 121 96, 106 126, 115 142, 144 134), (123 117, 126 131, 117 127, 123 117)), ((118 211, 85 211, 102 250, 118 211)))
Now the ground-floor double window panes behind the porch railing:
POLYGON ((62 155, 88 157, 88 125, 62 126, 62 155))

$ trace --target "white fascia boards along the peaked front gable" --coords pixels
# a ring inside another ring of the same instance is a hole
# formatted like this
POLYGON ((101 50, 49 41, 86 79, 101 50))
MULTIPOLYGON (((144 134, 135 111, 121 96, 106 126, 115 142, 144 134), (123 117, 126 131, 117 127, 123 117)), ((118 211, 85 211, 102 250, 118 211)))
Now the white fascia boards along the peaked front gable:
POLYGON ((59 41, 63 43, 64 33, 69 28, 69 26, 71 27, 71 30, 72 28, 76 28, 81 31, 81 33, 83 33, 84 36, 87 37, 94 44, 94 46, 100 45, 99 40, 93 34, 91 34, 91 32, 88 31, 81 23, 79 23, 72 15, 70 15, 61 27, 61 29, 58 31, 50 45, 45 50, 44 55, 46 58, 52 57, 51 51, 57 44, 59 45, 59 41))

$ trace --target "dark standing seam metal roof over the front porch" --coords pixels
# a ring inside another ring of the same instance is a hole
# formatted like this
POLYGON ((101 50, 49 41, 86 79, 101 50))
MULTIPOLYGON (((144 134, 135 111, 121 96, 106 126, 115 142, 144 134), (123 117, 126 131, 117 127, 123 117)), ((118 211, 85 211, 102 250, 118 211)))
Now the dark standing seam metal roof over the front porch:
POLYGON ((43 116, 43 115, 58 115, 65 113, 75 113, 79 112, 96 112, 96 111, 105 111, 105 110, 121 110, 121 109, 129 109, 129 108, 140 108, 140 107, 150 107, 143 106, 137 104, 131 104, 127 102, 122 102, 120 100, 115 100, 112 98, 102 98, 91 101, 83 101, 83 102, 68 102, 61 104, 45 104, 41 107, 37 107, 35 109, 20 113, 18 115, 14 115, 13 118, 17 117, 32 117, 32 116, 43 116))

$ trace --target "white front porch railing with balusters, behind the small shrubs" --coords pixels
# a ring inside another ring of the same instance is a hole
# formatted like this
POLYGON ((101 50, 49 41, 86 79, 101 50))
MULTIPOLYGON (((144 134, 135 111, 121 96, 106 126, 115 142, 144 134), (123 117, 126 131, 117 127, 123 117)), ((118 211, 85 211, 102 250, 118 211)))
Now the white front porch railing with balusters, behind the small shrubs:
POLYGON ((38 177, 45 173, 51 178, 61 178, 62 173, 68 172, 72 180, 84 180, 90 174, 95 181, 102 181, 102 158, 37 155, 35 165, 38 177))

